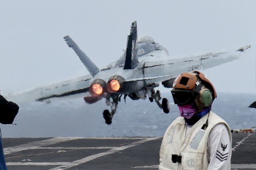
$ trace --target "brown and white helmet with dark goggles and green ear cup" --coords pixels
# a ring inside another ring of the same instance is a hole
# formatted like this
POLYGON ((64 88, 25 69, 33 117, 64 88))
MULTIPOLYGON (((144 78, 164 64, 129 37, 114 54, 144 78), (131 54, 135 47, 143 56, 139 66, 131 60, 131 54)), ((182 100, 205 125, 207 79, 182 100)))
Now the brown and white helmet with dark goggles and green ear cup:
POLYGON ((217 97, 209 78, 199 71, 182 73, 176 77, 171 92, 174 104, 194 104, 197 109, 209 107, 217 97))

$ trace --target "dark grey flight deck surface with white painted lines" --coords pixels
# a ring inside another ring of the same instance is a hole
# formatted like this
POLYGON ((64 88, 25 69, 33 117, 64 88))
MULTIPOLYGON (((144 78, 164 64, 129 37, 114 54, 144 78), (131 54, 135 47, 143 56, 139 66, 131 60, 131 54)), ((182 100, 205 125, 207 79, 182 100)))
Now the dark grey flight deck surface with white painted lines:
MULTIPOLYGON (((232 134, 232 170, 256 169, 256 134, 232 134)), ((162 137, 2 138, 8 170, 158 169, 162 137)))

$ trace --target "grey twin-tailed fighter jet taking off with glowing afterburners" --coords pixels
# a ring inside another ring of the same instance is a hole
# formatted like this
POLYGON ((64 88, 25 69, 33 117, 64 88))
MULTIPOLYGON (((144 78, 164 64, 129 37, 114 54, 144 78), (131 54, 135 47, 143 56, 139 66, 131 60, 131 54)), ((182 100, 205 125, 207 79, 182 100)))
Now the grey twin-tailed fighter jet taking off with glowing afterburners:
POLYGON ((181 73, 208 69, 233 61, 238 59, 240 52, 250 47, 241 47, 229 52, 174 58, 170 57, 166 48, 155 43, 149 36, 142 36, 137 40, 135 21, 132 23, 124 53, 116 62, 99 69, 69 36, 65 36, 64 40, 74 49, 90 75, 6 98, 15 102, 46 101, 48 103, 53 99, 82 96, 89 104, 105 99, 106 105, 111 108, 111 111, 108 109, 103 111, 103 117, 108 125, 112 123, 112 117, 122 96, 124 101, 126 97, 138 100, 146 99, 148 96, 150 102, 155 101, 164 113, 169 113, 168 99, 162 99, 160 91, 155 91, 159 83, 166 88, 172 88, 175 77, 181 73))

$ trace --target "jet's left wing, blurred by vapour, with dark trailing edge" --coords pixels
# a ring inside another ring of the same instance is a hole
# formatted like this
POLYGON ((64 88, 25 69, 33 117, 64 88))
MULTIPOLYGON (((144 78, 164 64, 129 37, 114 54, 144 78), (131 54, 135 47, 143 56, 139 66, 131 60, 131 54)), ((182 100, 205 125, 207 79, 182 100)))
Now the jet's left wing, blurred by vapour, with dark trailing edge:
POLYGON ((15 103, 31 101, 52 101, 63 98, 78 98, 90 96, 90 79, 92 75, 85 75, 67 81, 62 81, 46 87, 39 87, 17 95, 5 96, 6 100, 15 103))

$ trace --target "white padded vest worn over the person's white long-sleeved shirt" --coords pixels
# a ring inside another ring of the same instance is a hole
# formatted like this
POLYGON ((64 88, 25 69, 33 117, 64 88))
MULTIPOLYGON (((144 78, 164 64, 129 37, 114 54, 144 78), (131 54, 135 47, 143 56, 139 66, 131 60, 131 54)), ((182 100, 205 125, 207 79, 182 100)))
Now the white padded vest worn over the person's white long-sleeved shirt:
MULTIPOLYGON (((204 115, 191 130, 186 134, 186 123, 183 117, 178 117, 168 127, 164 134, 160 148, 159 170, 207 170, 207 140, 211 129, 219 124, 226 125, 230 144, 232 136, 226 121, 210 111, 208 127, 204 130, 202 126, 206 123, 208 114, 204 115), (174 163, 176 162, 176 163, 174 163)), ((231 147, 230 156, 231 158, 231 147)), ((230 169, 230 167, 229 167, 230 169)))

